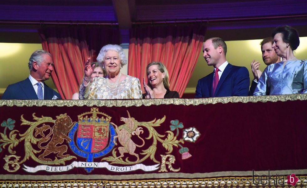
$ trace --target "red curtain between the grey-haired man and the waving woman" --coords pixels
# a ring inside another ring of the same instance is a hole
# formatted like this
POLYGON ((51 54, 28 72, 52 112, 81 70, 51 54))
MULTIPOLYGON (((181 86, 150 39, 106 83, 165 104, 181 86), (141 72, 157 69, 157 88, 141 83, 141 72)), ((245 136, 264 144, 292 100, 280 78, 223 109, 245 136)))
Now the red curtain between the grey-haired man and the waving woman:
POLYGON ((52 79, 62 99, 79 91, 87 58, 96 61, 102 46, 119 44, 117 27, 65 26, 39 29, 43 49, 54 62, 52 79))

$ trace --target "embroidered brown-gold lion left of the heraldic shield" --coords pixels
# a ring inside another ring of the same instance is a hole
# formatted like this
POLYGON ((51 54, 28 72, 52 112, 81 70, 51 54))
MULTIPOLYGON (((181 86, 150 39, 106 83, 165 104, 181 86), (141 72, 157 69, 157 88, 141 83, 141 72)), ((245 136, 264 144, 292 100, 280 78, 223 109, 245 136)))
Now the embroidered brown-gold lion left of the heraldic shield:
POLYGON ((35 128, 35 137, 39 134, 43 138, 39 141, 38 147, 40 149, 45 149, 42 154, 39 155, 39 159, 43 161, 52 161, 50 158, 45 158, 50 153, 57 153, 58 157, 69 157, 69 154, 64 155, 67 152, 67 146, 62 144, 64 140, 70 142, 70 137, 67 136, 71 127, 73 126, 72 120, 69 116, 65 114, 60 114, 56 116, 55 125, 51 128, 49 125, 43 124, 40 128, 35 128), (44 132, 49 129, 50 133, 45 136, 44 132), (50 139, 51 134, 53 134, 50 139), (50 141, 49 141, 50 140, 50 141), (48 142, 49 141, 49 142, 48 142), (42 146, 43 143, 48 142, 46 146, 42 146))

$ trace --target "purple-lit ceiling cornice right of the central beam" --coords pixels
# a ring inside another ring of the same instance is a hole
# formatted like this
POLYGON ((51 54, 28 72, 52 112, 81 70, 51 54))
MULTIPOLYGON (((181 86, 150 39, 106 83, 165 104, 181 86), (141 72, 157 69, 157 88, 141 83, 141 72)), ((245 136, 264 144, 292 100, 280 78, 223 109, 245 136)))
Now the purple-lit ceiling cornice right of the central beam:
POLYGON ((136 21, 306 14, 305 7, 306 2, 301 0, 295 2, 268 0, 265 3, 252 1, 186 5, 142 5, 136 7, 136 21), (274 6, 269 6, 270 4, 274 6))

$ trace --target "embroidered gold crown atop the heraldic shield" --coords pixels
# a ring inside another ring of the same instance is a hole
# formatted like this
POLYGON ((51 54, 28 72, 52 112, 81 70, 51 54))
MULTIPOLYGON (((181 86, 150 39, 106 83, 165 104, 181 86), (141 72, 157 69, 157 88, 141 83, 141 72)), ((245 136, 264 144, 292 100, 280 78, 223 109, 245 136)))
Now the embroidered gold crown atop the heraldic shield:
POLYGON ((99 112, 98 108, 91 108, 90 112, 78 115, 78 121, 82 124, 109 124, 111 118, 107 114, 99 112), (101 115, 101 118, 97 116, 98 114, 101 115))

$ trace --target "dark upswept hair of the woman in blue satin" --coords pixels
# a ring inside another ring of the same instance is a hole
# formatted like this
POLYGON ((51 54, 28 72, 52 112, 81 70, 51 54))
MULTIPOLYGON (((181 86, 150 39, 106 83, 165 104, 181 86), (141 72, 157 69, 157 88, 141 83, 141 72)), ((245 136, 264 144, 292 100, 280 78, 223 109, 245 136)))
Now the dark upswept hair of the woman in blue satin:
POLYGON ((273 30, 272 37, 281 33, 283 41, 289 43, 292 50, 299 46, 299 32, 291 26, 278 26, 273 30))

